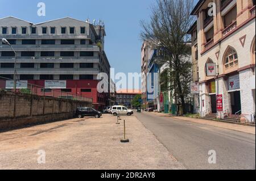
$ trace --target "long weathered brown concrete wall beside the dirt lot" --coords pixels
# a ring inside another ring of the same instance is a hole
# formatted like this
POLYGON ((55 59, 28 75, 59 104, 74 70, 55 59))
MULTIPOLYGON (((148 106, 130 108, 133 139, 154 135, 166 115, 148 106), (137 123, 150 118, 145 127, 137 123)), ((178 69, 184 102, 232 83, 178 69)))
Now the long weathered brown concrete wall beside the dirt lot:
POLYGON ((14 92, 0 90, 0 130, 70 119, 77 107, 92 106, 91 102, 22 93, 16 93, 14 100, 14 92))

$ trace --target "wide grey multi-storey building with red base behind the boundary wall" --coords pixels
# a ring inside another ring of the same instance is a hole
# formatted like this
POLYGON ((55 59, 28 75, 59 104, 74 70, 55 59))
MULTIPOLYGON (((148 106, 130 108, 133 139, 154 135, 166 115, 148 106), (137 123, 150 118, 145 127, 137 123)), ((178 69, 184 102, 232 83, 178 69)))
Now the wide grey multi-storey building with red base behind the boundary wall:
MULTIPOLYGON (((93 98, 95 108, 109 104, 109 94, 97 92, 97 74, 110 74, 104 51, 105 28, 73 18, 30 23, 14 17, 0 19, 0 38, 16 51, 17 78, 36 85, 93 98)), ((0 44, 0 76, 13 79, 15 54, 0 44)))

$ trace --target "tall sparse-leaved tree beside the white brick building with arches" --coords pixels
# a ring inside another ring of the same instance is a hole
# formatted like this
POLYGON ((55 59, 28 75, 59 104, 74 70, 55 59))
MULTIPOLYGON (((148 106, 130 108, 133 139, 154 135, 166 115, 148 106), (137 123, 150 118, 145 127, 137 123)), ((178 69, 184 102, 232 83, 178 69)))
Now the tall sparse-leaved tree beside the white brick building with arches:
POLYGON ((184 113, 185 98, 192 80, 191 47, 188 45, 191 40, 187 31, 193 23, 190 15, 193 4, 193 0, 157 0, 151 10, 150 22, 141 22, 142 39, 164 51, 158 64, 168 65, 168 90, 176 104, 182 104, 184 113))

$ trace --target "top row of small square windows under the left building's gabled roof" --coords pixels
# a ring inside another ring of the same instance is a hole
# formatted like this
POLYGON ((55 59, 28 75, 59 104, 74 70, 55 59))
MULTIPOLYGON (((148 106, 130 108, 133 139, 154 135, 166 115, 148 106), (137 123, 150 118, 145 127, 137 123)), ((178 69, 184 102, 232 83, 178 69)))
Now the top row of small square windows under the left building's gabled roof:
MULTIPOLYGON (((48 27, 42 27, 42 33, 47 34, 47 29, 48 27)), ((51 34, 56 33, 56 28, 55 27, 50 27, 49 28, 51 34)), ((7 34, 8 27, 2 27, 2 34, 7 34)), ((36 34, 37 29, 36 27, 31 27, 31 34, 36 34)), ((61 27, 61 34, 66 34, 67 33, 67 27, 61 27)), ((75 33, 75 27, 69 27, 69 33, 74 34, 75 33)), ((80 33, 85 34, 85 27, 80 27, 80 33)), ((11 34, 17 34, 17 28, 16 27, 11 27, 11 34)), ((22 34, 27 34, 27 27, 22 27, 22 34)))

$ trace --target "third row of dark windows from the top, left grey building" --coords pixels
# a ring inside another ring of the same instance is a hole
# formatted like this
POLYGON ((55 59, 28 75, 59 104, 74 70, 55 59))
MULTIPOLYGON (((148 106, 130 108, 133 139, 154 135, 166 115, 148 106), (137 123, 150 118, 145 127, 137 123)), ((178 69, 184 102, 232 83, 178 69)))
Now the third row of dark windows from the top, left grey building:
MULTIPOLYGON (((55 52, 41 52, 41 57, 54 57, 55 52)), ((14 57, 15 53, 13 51, 1 52, 2 57, 14 57)), ((35 57, 35 52, 21 52, 22 57, 35 57)), ((60 52, 61 57, 74 57, 75 52, 60 52)), ((94 52, 80 52, 80 57, 93 57, 94 52)))

